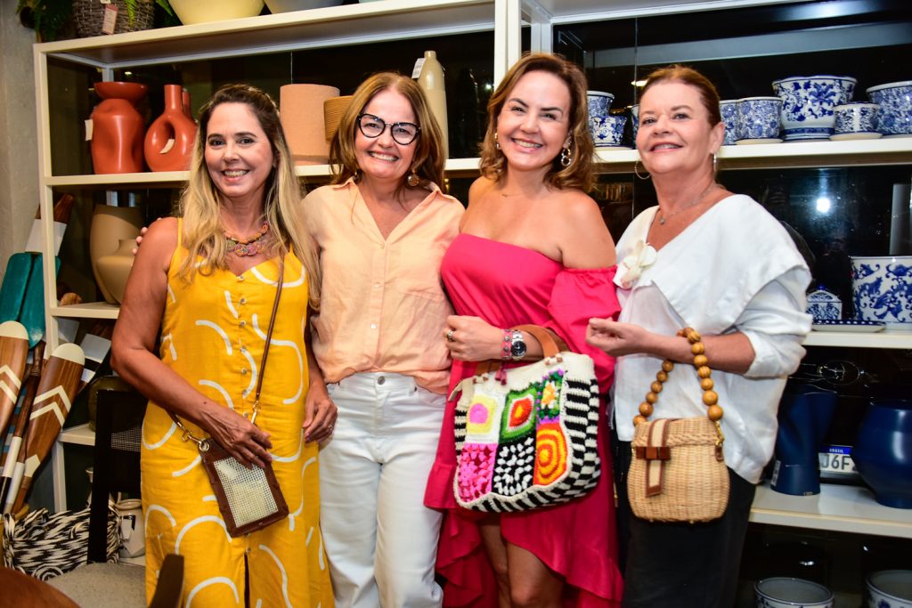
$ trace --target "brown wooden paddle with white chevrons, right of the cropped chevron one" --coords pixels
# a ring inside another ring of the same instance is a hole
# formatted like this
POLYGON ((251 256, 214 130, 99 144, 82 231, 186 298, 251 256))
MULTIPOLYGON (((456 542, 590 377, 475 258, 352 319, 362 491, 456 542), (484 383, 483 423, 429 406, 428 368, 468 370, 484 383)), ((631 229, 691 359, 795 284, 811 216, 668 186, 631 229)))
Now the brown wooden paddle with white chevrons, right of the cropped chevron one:
POLYGON ((47 458, 69 415, 85 362, 82 349, 74 344, 57 346, 48 359, 28 416, 25 442, 19 450, 13 485, 6 495, 5 513, 11 512, 11 509, 17 513, 22 509, 32 486, 32 477, 38 465, 47 458), (20 475, 22 480, 17 484, 20 475), (13 489, 17 491, 14 492, 13 489))

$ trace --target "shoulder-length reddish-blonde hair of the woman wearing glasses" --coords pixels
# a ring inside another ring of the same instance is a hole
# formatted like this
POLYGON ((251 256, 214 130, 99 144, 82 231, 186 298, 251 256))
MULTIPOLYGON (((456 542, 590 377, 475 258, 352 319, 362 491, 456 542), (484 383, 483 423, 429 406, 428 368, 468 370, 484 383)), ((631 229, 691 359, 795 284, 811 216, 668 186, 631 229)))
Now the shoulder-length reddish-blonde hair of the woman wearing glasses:
MULTIPOLYGON (((395 72, 378 72, 362 82, 352 97, 351 103, 339 120, 336 135, 329 144, 329 163, 333 172, 333 183, 342 183, 348 178, 360 177, 360 168, 355 150, 355 138, 358 136, 358 116, 367 108, 370 100, 385 90, 395 91, 409 100, 415 113, 420 131, 412 142, 415 145, 415 158, 411 161, 411 170, 423 181, 432 181, 442 188, 443 165, 446 162, 443 154, 443 135, 437 120, 430 113, 428 100, 414 80, 395 72)), ((411 145, 411 144, 409 144, 411 145)), ((408 175, 403 175, 399 189, 406 187, 408 175)))

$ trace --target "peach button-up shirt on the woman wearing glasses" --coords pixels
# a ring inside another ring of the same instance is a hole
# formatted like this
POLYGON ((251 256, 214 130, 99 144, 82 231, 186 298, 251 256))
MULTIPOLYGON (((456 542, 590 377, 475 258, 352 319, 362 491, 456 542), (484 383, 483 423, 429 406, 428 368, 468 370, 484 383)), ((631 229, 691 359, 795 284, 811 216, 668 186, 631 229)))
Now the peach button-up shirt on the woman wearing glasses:
POLYGON ((459 232, 461 203, 432 186, 385 240, 353 180, 312 191, 304 207, 322 273, 311 324, 326 382, 383 371, 446 392, 442 332, 452 307, 440 260, 459 232))

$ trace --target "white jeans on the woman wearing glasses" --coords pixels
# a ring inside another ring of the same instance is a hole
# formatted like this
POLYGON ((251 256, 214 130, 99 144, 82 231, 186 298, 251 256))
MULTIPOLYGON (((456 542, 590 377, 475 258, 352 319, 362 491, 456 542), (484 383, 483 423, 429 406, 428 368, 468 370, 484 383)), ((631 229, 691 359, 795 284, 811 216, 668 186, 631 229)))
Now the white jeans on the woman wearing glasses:
POLYGON ((338 420, 320 451, 320 527, 337 608, 439 607, 441 515, 424 489, 445 397, 383 372, 326 389, 338 420))

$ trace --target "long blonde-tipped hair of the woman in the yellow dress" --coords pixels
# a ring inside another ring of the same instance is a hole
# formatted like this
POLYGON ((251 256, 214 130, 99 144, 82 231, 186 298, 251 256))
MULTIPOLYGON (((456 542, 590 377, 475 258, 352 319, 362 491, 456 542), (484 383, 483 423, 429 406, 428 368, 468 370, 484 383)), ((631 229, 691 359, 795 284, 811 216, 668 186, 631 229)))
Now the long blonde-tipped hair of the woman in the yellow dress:
POLYGON ((250 85, 225 85, 215 91, 200 110, 190 178, 181 194, 180 205, 183 218, 181 242, 190 254, 181 263, 178 275, 190 281, 196 272, 209 274, 213 269, 228 268, 221 197, 205 160, 209 120, 212 119, 212 111, 223 103, 242 103, 249 107, 269 139, 275 166, 265 182, 264 218, 276 238, 271 241, 267 252, 274 257, 285 255, 289 245, 294 248, 307 273, 311 306, 316 308, 320 297, 316 246, 307 231, 301 205, 301 185, 295 176, 295 165, 279 121, 278 107, 273 98, 250 85), (198 257, 203 261, 199 266, 196 264, 198 257))

